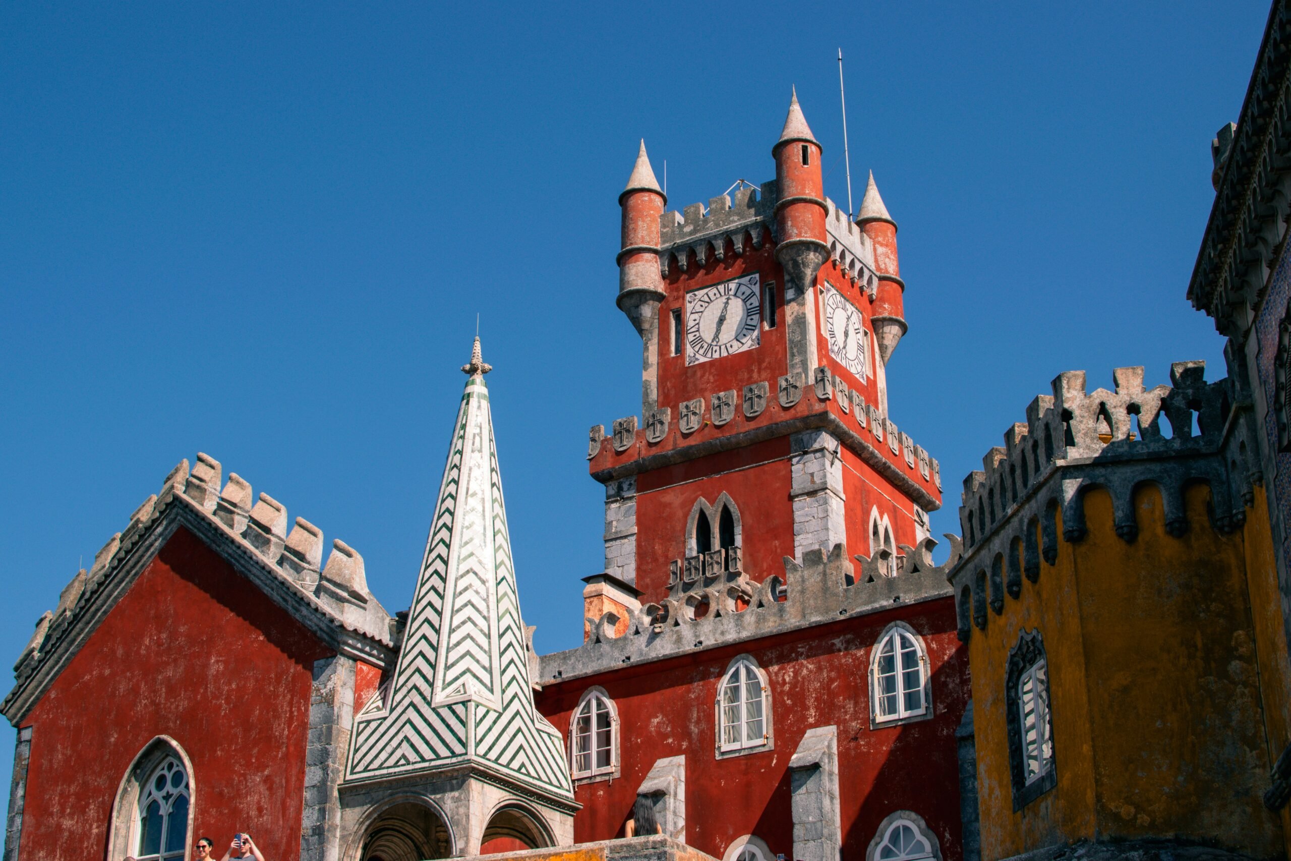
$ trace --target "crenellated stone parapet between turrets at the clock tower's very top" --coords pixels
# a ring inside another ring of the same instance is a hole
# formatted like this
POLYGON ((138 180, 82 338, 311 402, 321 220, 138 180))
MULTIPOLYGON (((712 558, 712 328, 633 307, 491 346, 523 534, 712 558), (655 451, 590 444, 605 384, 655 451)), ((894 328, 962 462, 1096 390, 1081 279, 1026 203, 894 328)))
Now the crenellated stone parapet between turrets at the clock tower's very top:
MULTIPOLYGON (((710 259, 726 259, 728 241, 738 257, 749 248, 760 249, 768 238, 775 238, 776 181, 762 183, 760 195, 758 191, 737 188, 733 200, 729 195, 718 195, 706 208, 693 203, 680 213, 674 209, 661 214, 658 265, 664 278, 674 270, 689 271, 692 261, 702 268, 710 259)), ((878 279, 869 236, 829 198, 825 207, 830 257, 873 298, 878 279)))

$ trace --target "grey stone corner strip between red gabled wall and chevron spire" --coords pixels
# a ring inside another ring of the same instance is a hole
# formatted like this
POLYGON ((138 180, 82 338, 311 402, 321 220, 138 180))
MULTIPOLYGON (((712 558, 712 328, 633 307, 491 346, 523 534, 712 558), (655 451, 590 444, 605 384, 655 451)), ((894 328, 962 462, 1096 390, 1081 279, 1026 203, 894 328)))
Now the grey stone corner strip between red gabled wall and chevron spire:
POLYGON ((314 662, 310 734, 305 750, 302 858, 337 861, 340 857, 341 804, 337 786, 345 771, 354 725, 354 658, 336 656, 314 662))

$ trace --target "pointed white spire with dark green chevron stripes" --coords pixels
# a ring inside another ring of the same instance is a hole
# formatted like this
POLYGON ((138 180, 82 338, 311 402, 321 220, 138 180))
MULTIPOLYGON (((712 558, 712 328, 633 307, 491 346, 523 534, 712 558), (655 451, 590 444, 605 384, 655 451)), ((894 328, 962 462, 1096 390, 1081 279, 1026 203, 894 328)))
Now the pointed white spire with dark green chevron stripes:
POLYGON ((569 802, 560 733, 533 705, 488 369, 476 338, 399 661, 355 720, 346 781, 474 764, 569 802))

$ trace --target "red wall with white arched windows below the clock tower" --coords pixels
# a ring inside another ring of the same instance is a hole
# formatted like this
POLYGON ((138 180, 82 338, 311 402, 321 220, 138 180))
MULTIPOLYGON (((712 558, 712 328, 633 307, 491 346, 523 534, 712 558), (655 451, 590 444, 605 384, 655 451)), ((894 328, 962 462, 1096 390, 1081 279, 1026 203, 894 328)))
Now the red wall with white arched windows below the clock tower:
POLYGON ((729 843, 754 834, 772 852, 793 857, 789 759, 812 727, 838 727, 843 857, 864 858, 883 817, 896 809, 922 816, 945 861, 959 861, 959 778, 954 731, 968 698, 968 661, 955 638, 951 599, 846 620, 816 629, 642 665, 612 675, 544 687, 538 709, 565 736, 580 696, 599 684, 620 719, 622 773, 582 784, 576 795, 577 842, 622 834, 636 787, 655 760, 686 754, 687 843, 722 857, 729 843), (883 629, 901 618, 928 648, 933 716, 871 731, 868 673, 883 629), (714 700, 731 658, 749 653, 769 678, 775 749, 715 756, 714 700))

